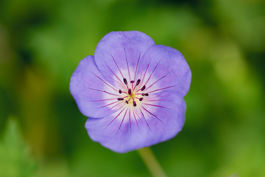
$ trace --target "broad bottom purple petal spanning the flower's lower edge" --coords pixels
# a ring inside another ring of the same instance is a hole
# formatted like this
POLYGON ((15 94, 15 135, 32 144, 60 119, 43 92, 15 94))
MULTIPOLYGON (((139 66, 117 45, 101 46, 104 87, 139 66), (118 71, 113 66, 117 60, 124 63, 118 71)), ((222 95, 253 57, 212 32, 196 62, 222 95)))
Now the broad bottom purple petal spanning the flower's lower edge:
POLYGON ((181 131, 185 101, 168 92, 152 94, 136 107, 128 106, 102 119, 87 119, 90 138, 118 153, 169 140, 181 131))

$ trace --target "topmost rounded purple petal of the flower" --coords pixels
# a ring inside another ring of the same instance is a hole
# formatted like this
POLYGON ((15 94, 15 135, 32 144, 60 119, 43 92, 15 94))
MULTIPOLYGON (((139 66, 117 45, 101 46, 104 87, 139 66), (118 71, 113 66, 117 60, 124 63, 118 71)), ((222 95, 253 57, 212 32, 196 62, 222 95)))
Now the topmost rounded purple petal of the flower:
POLYGON ((110 32, 95 49, 95 62, 102 75, 112 85, 123 83, 123 78, 136 80, 139 61, 155 43, 139 31, 110 32))

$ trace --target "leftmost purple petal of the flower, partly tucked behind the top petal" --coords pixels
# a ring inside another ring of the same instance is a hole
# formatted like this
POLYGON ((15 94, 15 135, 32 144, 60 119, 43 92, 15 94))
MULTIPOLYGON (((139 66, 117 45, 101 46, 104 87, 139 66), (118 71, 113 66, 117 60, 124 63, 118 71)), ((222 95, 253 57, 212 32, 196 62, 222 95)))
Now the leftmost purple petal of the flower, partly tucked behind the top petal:
POLYGON ((102 118, 120 108, 118 89, 108 83, 98 70, 94 56, 80 61, 70 81, 70 93, 80 112, 88 117, 102 118))

